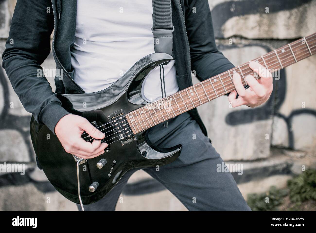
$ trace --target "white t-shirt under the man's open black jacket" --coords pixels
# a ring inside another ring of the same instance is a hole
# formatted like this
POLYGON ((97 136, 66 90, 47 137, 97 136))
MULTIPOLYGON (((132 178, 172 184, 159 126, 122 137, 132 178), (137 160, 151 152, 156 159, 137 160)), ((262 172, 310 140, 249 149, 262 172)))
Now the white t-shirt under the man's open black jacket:
MULTIPOLYGON (((86 93, 103 90, 139 59, 152 54, 151 0, 78 0, 76 41, 71 48, 74 80, 86 93)), ((164 66, 166 94, 179 90, 175 62, 164 66)), ((144 81, 143 97, 161 99, 160 68, 144 81)))

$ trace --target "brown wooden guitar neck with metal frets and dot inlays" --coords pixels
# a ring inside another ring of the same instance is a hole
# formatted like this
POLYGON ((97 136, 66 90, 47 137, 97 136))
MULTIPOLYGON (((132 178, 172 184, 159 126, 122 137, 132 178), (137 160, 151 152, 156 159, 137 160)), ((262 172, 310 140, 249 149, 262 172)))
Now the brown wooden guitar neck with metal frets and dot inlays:
MULTIPOLYGON (((252 61, 260 63, 273 72, 314 54, 316 54, 316 33, 287 44, 252 61)), ((128 113, 127 120, 131 130, 134 134, 142 132, 219 96, 228 94, 235 90, 233 83, 234 73, 240 74, 243 85, 247 85, 245 79, 247 75, 253 75, 259 79, 260 77, 249 67, 249 62, 128 113)))

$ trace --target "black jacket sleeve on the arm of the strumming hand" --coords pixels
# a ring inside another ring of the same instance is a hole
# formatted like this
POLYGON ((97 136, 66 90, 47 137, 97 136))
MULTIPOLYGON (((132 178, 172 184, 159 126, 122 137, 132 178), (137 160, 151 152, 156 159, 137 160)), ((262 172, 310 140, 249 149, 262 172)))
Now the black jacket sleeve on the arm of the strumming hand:
POLYGON ((57 122, 69 114, 38 69, 50 53, 54 17, 50 0, 18 0, 2 66, 23 107, 53 133, 57 122))

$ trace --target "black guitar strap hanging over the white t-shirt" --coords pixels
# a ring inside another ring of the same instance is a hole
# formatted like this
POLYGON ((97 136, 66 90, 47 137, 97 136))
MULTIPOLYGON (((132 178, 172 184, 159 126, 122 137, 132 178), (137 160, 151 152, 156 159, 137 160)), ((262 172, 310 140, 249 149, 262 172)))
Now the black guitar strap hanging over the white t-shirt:
POLYGON ((172 55, 171 0, 153 0, 153 27, 155 53, 172 55))

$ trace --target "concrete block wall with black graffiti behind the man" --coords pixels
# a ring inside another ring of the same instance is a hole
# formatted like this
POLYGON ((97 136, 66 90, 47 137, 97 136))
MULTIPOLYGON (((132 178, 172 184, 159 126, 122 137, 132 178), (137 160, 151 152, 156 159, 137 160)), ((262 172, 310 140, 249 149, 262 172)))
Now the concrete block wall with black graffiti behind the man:
MULTIPOLYGON (((0 1, 0 53, 15 2, 0 1)), ((235 65, 316 31, 316 0, 212 0, 209 4, 218 48, 235 65)), ((52 54, 42 66, 55 68, 52 54)), ((315 71, 316 56, 285 68, 273 81, 270 100, 257 108, 230 108, 226 96, 199 107, 222 158, 243 164, 243 175, 233 175, 244 197, 271 185, 284 187, 302 166, 316 167, 315 71)), ((47 79, 54 88, 53 78, 47 79)), ((2 68, 0 114, 0 163, 23 163, 27 168, 25 175, 0 173, 0 210, 76 210, 37 169, 29 137, 31 114, 2 68)), ((143 171, 131 177, 121 196, 117 210, 186 210, 143 171)))

